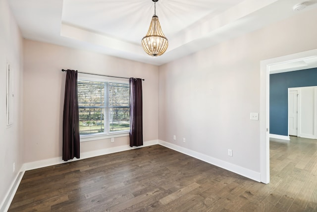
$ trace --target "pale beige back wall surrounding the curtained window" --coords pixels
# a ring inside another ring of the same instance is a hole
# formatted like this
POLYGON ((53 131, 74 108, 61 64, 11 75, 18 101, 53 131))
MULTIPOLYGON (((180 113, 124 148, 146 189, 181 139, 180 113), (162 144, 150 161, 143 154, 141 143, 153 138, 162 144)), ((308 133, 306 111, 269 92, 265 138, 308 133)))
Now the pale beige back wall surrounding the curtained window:
MULTIPOLYGON (((157 66, 66 47, 24 41, 24 162, 62 155, 62 115, 66 72, 72 69, 143 81, 144 141, 158 140, 157 66)), ((81 153, 128 145, 128 137, 81 142, 81 153)))

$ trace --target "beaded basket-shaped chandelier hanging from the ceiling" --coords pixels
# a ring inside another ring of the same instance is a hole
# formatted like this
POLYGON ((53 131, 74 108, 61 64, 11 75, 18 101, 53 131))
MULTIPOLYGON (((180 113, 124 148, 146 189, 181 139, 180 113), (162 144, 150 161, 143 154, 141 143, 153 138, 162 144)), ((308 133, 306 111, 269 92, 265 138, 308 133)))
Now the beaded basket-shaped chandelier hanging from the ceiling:
POLYGON ((168 41, 160 28, 159 17, 156 15, 156 2, 159 0, 152 1, 154 2, 154 15, 148 33, 142 39, 142 47, 148 55, 157 57, 166 51, 168 41))

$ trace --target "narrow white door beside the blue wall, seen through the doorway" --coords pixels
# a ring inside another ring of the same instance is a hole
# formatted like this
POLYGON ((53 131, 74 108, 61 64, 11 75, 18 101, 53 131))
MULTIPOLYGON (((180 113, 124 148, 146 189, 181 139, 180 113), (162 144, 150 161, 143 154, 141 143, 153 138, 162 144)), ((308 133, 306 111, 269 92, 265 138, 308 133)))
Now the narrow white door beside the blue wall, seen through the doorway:
POLYGON ((297 90, 288 92, 288 134, 297 136, 297 90))

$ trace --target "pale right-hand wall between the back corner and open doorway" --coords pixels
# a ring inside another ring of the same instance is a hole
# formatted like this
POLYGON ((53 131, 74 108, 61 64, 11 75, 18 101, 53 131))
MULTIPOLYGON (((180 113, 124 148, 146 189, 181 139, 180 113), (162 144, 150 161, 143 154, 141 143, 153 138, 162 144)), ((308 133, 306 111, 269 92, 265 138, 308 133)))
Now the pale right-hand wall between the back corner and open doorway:
POLYGON ((159 140, 260 173, 260 123, 250 120, 260 61, 316 49, 315 20, 316 9, 161 66, 159 140))

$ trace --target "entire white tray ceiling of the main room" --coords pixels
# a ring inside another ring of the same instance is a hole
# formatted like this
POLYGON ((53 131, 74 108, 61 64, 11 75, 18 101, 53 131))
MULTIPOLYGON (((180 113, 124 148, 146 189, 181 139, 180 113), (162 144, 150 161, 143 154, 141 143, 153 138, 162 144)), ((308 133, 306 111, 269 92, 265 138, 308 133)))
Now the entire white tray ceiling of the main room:
POLYGON ((272 22, 317 7, 306 0, 159 0, 157 12, 169 41, 152 58, 142 49, 152 0, 8 0, 26 39, 162 65, 272 22))

